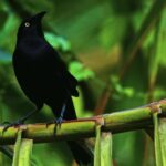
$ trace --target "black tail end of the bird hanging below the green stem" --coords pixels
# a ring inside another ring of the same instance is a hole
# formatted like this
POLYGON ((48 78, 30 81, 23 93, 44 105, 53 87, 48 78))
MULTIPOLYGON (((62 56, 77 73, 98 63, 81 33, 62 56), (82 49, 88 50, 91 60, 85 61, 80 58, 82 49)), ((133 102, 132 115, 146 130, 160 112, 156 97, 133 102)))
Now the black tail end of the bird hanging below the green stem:
POLYGON ((68 141, 66 143, 79 165, 93 166, 93 153, 85 143, 75 141, 68 141))

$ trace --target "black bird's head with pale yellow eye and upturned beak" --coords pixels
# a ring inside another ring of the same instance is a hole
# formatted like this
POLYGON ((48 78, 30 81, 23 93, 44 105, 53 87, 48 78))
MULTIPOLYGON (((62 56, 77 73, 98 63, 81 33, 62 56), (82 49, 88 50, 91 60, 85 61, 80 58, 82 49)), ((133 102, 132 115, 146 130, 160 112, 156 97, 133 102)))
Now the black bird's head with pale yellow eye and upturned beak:
POLYGON ((22 21, 19 27, 18 37, 39 35, 43 37, 41 20, 46 12, 40 12, 32 18, 22 21))

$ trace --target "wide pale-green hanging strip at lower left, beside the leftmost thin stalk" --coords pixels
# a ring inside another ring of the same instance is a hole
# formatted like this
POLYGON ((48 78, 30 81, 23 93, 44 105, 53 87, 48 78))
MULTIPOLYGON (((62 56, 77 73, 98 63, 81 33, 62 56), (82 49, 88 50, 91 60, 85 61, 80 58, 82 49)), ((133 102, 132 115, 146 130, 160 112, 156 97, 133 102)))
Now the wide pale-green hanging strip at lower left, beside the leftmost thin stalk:
POLYGON ((30 166, 31 165, 31 154, 32 154, 32 139, 22 139, 20 152, 19 152, 19 164, 18 166, 30 166))

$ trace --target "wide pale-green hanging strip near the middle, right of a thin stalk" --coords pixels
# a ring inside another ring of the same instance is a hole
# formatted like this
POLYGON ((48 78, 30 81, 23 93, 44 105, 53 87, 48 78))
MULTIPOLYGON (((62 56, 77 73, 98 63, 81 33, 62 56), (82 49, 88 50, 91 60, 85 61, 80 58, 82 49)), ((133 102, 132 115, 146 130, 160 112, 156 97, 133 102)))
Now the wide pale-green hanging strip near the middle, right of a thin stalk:
POLYGON ((112 134, 102 133, 102 166, 113 166, 112 160, 112 134))

